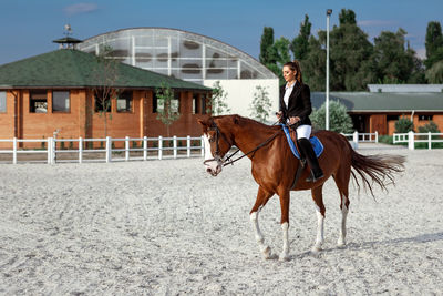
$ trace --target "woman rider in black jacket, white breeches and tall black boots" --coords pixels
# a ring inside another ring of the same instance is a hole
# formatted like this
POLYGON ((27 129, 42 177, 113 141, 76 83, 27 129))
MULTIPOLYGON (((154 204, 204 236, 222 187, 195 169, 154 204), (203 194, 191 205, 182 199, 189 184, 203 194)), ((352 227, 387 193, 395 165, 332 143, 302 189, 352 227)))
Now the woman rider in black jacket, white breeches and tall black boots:
POLYGON ((311 176, 307 178, 307 182, 316 182, 323 177, 323 172, 309 142, 311 135, 309 114, 312 111, 310 90, 302 81, 298 61, 287 62, 284 65, 282 74, 287 83, 280 88, 280 111, 277 113, 277 118, 288 125, 298 126, 298 147, 305 154, 311 169, 311 176))

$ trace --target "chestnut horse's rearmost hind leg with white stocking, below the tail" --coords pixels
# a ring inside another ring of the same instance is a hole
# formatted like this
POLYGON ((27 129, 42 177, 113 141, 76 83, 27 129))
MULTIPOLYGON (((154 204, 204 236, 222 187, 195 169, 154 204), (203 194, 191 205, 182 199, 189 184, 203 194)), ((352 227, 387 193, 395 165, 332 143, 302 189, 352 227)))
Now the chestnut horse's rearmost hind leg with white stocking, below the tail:
POLYGON ((341 227, 340 227, 340 235, 339 239, 337 241, 338 246, 344 246, 346 245, 346 235, 347 235, 347 229, 346 229, 346 222, 348 217, 348 212, 349 212, 349 180, 351 177, 351 169, 349 170, 339 170, 337 175, 333 176, 337 187, 339 188, 340 192, 340 210, 341 210, 341 227))

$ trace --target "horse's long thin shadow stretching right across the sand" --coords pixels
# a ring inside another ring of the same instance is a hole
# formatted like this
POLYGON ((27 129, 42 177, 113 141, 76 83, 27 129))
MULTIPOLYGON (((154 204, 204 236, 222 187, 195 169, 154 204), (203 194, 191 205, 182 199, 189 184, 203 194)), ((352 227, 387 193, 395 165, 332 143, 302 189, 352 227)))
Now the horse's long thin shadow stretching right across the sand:
POLYGON ((330 248, 323 248, 319 253, 312 253, 311 251, 307 251, 300 254, 295 254, 290 256, 290 259, 296 259, 296 258, 303 258, 307 256, 311 257, 320 257, 321 254, 329 253, 329 252, 336 252, 337 249, 371 249, 375 248, 379 246, 392 246, 392 245, 400 245, 400 244, 406 244, 406 243, 430 243, 430 242, 437 242, 437 241, 443 241, 443 232, 439 233, 429 233, 429 234, 421 234, 412 237, 401 237, 401 238, 394 238, 394 239, 385 239, 385 241, 371 241, 371 242, 363 242, 363 243, 349 243, 343 247, 330 247, 330 248))

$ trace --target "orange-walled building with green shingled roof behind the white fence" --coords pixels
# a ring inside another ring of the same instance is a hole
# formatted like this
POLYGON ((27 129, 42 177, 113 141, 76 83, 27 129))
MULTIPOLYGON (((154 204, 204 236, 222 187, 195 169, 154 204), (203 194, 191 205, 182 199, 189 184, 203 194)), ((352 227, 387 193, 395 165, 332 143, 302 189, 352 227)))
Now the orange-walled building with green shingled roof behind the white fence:
POLYGON ((109 136, 166 136, 156 98, 164 85, 174 91, 173 104, 181 114, 171 135, 200 135, 197 120, 205 116, 212 89, 115 64, 112 82, 104 81, 110 71, 105 63, 71 47, 0 65, 0 139, 47 139, 54 131, 64 139, 102 139, 104 108, 109 136), (117 92, 104 106, 95 93, 106 83, 117 92))

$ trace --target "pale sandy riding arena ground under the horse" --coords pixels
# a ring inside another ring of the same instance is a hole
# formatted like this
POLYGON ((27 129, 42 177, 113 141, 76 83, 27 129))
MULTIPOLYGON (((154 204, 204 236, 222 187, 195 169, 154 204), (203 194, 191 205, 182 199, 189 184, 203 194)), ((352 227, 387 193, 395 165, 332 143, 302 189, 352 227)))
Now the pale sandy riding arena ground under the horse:
MULTIPOLYGON (((443 151, 401 154, 405 173, 377 201, 351 185, 348 245, 337 248, 339 194, 324 188, 324 251, 309 251, 317 217, 292 192, 290 261, 265 261, 249 211, 250 162, 207 175, 202 159, 0 165, 1 295, 442 295, 443 151)), ((281 251, 280 206, 260 214, 281 251)))

